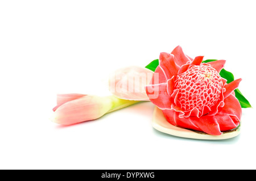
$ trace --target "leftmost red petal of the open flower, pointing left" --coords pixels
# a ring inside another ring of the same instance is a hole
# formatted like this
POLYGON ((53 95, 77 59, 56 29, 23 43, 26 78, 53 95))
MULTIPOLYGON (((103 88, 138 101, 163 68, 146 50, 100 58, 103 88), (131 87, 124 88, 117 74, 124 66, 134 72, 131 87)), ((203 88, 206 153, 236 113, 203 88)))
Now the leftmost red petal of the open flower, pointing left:
POLYGON ((159 83, 155 85, 147 85, 146 93, 150 101, 163 109, 171 109, 171 97, 167 93, 167 83, 159 83))

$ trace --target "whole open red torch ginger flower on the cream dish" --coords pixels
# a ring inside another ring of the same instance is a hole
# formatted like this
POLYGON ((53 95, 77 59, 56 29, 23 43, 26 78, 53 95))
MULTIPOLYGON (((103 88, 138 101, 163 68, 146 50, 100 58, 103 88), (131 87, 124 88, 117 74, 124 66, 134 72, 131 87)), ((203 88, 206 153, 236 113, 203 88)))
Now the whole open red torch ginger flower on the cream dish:
POLYGON ((179 46, 171 54, 160 53, 159 79, 152 77, 146 93, 172 125, 220 135, 240 124, 242 108, 234 90, 241 79, 227 84, 220 77, 225 60, 202 61, 203 56, 192 59, 179 46))

